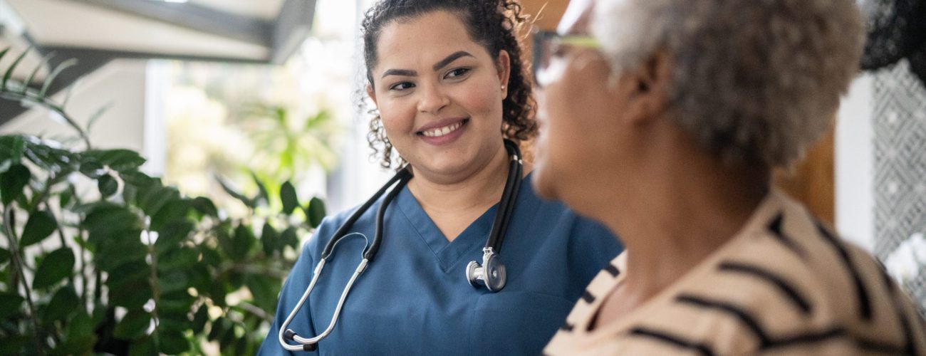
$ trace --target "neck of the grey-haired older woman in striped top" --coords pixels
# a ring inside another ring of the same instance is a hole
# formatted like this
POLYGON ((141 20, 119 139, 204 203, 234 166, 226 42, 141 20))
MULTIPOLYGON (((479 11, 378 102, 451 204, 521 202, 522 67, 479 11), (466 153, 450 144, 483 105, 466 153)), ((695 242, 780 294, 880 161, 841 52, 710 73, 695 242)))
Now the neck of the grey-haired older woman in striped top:
POLYGON ((770 174, 707 153, 673 153, 650 166, 606 224, 628 251, 626 291, 646 301, 732 239, 768 194, 770 174))

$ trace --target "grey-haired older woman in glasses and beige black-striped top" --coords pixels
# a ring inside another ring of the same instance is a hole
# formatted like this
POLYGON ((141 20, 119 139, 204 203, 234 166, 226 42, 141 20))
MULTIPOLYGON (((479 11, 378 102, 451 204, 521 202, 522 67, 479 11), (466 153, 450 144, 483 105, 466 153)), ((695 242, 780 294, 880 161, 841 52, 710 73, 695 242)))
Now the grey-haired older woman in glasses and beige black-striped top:
POLYGON ((856 73, 852 0, 574 1, 539 38, 533 183, 627 248, 546 354, 926 355, 881 266, 770 183, 856 73))

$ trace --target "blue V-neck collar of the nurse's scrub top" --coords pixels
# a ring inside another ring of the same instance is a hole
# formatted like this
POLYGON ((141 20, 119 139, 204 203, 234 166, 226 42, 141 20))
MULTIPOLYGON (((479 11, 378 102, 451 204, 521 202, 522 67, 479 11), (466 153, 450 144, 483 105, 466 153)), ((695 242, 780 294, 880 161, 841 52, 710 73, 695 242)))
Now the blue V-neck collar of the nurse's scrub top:
POLYGON ((449 241, 444 236, 444 232, 434 224, 431 216, 424 211, 418 199, 412 195, 407 186, 395 197, 395 203, 399 207, 398 211, 407 218, 408 224, 418 232, 419 239, 434 253, 434 257, 444 272, 448 272, 453 268, 461 257, 468 252, 482 250, 486 239, 489 238, 495 212, 498 211, 498 203, 495 203, 470 223, 457 236, 457 239, 449 241))

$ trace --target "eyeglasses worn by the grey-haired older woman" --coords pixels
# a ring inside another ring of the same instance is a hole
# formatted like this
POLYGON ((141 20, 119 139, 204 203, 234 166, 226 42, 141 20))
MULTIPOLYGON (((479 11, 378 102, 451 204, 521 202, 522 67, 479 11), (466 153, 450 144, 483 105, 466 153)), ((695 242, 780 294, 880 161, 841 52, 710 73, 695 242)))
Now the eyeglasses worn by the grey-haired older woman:
POLYGON ((601 44, 592 36, 564 35, 553 31, 537 31, 533 34, 533 82, 543 87, 557 76, 550 65, 555 58, 565 55, 564 47, 578 46, 599 49, 601 44))

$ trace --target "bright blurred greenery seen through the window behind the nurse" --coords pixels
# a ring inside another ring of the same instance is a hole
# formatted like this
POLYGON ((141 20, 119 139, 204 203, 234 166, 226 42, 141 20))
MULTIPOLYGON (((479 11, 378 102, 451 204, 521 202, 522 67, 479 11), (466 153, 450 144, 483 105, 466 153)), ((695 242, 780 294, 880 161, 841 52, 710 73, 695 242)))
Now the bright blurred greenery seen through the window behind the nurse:
MULTIPOLYGON (((332 147, 350 132, 341 123, 354 107, 353 71, 345 66, 353 47, 317 40, 304 47, 282 66, 165 66, 165 181, 226 205, 231 215, 248 212, 229 201, 213 174, 250 192, 257 191, 254 175, 268 190, 287 179, 302 182, 296 188, 303 193, 322 190, 326 171, 337 164, 332 147)), ((280 204, 271 199, 269 206, 280 204)))

